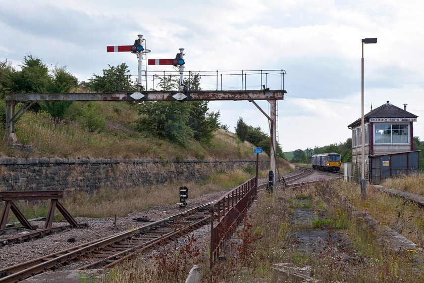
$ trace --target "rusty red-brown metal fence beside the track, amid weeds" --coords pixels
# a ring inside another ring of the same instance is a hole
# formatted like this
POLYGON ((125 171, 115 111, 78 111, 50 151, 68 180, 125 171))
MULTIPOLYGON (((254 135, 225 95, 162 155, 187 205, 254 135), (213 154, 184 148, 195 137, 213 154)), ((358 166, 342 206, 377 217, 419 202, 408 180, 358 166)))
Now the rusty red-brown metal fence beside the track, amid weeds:
POLYGON ((257 178, 253 177, 210 205, 210 268, 246 217, 247 208, 256 194, 257 178))

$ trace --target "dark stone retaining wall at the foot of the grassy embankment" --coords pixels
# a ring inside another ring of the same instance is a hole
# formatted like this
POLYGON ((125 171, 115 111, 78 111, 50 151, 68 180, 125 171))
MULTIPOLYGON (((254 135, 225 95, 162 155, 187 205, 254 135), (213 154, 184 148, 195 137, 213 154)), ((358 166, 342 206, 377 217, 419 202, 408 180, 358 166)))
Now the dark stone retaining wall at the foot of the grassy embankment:
MULTIPOLYGON (((0 191, 124 188, 173 180, 201 180, 218 171, 255 168, 254 160, 0 158, 0 191)), ((269 168, 269 161, 259 161, 269 168)))

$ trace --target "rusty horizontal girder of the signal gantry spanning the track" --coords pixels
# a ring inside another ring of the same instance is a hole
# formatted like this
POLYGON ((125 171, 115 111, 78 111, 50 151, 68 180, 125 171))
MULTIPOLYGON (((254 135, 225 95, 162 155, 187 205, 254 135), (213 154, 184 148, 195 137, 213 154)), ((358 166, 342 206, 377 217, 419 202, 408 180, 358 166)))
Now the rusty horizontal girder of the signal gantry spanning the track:
MULTIPOLYGON (((176 100, 178 91, 142 92, 143 98, 131 97, 134 92, 104 93, 8 93, 6 101, 160 101, 176 100)), ((190 91, 189 100, 282 100, 286 90, 202 90, 190 91)), ((186 94, 186 93, 184 93, 186 94)))

